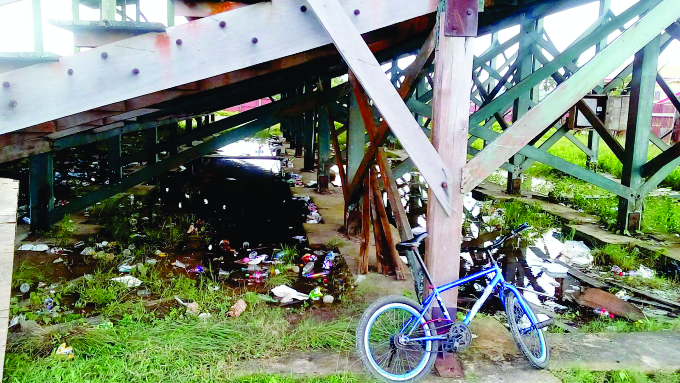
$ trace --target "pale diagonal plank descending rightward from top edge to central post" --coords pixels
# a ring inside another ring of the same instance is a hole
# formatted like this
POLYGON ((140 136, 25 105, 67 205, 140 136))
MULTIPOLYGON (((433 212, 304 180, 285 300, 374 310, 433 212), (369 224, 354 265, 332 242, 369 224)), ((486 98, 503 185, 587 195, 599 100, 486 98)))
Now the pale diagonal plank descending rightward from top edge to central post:
MULTIPOLYGON (((345 10, 337 0, 308 0, 308 2, 383 119, 387 121, 392 132, 399 138, 425 177, 432 194, 437 197, 444 211, 450 214, 453 194, 448 185, 453 182, 452 173, 422 132, 347 15, 351 13, 356 19, 357 16, 352 13, 354 9, 345 10)), ((469 89, 467 93, 469 98, 469 89)))

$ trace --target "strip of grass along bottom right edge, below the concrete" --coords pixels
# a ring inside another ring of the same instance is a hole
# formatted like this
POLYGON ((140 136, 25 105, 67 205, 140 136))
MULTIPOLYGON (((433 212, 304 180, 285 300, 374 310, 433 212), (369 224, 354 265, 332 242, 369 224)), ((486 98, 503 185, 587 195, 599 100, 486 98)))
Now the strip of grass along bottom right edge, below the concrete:
POLYGON ((678 383, 680 373, 646 374, 636 371, 557 370, 553 374, 563 383, 678 383))

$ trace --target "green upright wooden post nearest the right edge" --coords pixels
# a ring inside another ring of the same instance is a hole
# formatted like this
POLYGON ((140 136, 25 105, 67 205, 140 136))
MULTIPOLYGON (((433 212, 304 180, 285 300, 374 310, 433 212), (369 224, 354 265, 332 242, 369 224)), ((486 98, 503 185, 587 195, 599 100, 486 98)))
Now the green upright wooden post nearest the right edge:
POLYGON ((626 146, 621 174, 621 184, 629 186, 633 190, 633 196, 619 199, 618 213, 619 228, 631 233, 640 230, 642 221, 642 202, 645 196, 639 194, 639 188, 645 181, 642 177, 642 166, 647 162, 659 47, 660 38, 657 36, 637 52, 633 60, 626 146))

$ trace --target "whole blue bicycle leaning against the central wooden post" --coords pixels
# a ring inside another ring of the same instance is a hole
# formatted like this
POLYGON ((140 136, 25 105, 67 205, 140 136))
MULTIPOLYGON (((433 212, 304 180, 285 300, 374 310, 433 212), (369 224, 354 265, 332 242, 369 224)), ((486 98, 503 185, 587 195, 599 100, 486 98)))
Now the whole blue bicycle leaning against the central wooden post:
POLYGON ((472 333, 468 325, 493 292, 496 292, 505 307, 510 331, 519 349, 534 368, 546 368, 549 352, 542 329, 552 321, 548 319, 538 322, 517 288, 505 281, 501 268, 491 254, 492 250, 498 249, 505 241, 528 228, 529 225, 525 223, 486 247, 462 248, 461 252, 483 252, 491 261, 491 267, 440 287, 434 287, 418 252, 420 243, 428 236, 427 233, 397 244, 400 252, 415 253, 415 259, 422 267, 432 292, 422 306, 406 297, 387 296, 366 309, 356 330, 356 347, 364 368, 371 375, 388 382, 416 381, 423 378, 432 370, 436 354, 440 352, 440 343, 445 352, 459 352, 470 345, 472 333), (465 319, 455 322, 442 302, 441 294, 465 283, 490 277, 491 274, 491 282, 465 319), (435 300, 443 314, 440 320, 432 320, 429 315, 435 300), (448 330, 444 334, 440 333, 443 330, 441 327, 435 327, 437 321, 446 323, 448 330))

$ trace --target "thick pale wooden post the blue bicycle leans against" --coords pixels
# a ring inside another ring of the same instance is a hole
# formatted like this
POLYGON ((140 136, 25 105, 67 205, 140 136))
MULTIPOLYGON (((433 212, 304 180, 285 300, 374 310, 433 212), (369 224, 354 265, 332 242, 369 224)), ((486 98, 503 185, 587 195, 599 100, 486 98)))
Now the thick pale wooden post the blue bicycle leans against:
MULTIPOLYGON (((441 6, 440 6, 441 7, 441 6)), ((477 9, 473 9, 477 13, 477 9)), ((435 48, 432 145, 451 170, 448 190, 453 196, 451 214, 439 203, 428 203, 425 262, 435 285, 458 279, 462 233, 463 195, 461 177, 467 155, 470 89, 472 88, 472 60, 474 37, 446 36, 446 13, 439 12, 439 45, 435 48)), ((428 192, 432 195, 432 190, 428 192)), ((442 294, 444 304, 456 315, 458 289, 442 294)), ((433 317, 441 313, 433 309, 433 317)))

